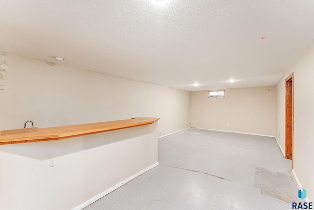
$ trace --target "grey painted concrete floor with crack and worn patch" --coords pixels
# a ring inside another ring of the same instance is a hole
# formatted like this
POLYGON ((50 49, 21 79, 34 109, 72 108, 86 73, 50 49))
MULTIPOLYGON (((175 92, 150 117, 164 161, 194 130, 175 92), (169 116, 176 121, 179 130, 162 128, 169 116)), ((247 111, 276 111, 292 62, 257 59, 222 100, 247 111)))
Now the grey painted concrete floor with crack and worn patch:
POLYGON ((158 140, 159 165, 84 210, 291 210, 298 187, 274 138, 187 129, 158 140))

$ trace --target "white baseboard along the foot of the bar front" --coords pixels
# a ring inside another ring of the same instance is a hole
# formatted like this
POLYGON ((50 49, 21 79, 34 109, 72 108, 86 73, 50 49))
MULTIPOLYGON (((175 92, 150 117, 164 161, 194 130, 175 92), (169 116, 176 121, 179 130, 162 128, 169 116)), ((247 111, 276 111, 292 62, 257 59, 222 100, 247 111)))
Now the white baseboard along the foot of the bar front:
POLYGON ((153 165, 151 165, 151 166, 141 170, 140 172, 138 172, 138 173, 134 174, 133 176, 129 177, 128 179, 126 179, 126 180, 124 180, 124 181, 122 181, 122 182, 120 182, 120 183, 110 187, 109 189, 107 189, 104 192, 96 195, 95 197, 89 199, 88 201, 85 201, 84 203, 80 204, 79 206, 75 207, 72 210, 82 210, 83 208, 87 207, 88 205, 94 203, 95 201, 97 201, 97 200, 101 199, 102 197, 104 197, 105 195, 109 194, 113 190, 119 188, 123 184, 126 184, 126 183, 130 182, 132 179, 134 179, 134 178, 138 177, 139 175, 144 174, 146 171, 149 171, 152 168, 156 167, 158 164, 159 163, 157 162, 157 163, 155 163, 155 164, 153 164, 153 165))

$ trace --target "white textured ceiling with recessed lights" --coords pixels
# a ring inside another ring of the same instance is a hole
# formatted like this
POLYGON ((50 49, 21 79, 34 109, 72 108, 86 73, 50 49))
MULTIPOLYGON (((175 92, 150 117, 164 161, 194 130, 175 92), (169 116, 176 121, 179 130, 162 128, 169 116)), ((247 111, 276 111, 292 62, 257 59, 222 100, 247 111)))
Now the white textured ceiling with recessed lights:
POLYGON ((275 85, 313 39, 314 0, 0 3, 4 53, 188 91, 275 85))

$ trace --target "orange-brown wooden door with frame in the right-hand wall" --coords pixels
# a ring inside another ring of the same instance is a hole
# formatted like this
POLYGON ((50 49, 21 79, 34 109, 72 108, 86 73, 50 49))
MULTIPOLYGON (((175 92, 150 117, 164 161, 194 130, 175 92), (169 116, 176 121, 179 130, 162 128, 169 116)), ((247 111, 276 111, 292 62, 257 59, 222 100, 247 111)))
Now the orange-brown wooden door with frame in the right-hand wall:
POLYGON ((286 79, 286 154, 293 168, 293 73, 286 79))

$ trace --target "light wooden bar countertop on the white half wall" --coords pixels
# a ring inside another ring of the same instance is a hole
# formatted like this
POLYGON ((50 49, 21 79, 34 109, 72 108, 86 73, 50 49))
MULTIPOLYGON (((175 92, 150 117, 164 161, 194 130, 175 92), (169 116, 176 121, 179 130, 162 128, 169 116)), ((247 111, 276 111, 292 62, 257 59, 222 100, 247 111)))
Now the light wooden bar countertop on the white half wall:
POLYGON ((43 129, 31 127, 27 129, 0 131, 0 144, 17 144, 34 141, 59 140, 81 135, 149 125, 157 122, 158 120, 159 118, 154 117, 136 117, 128 120, 116 120, 43 129))

